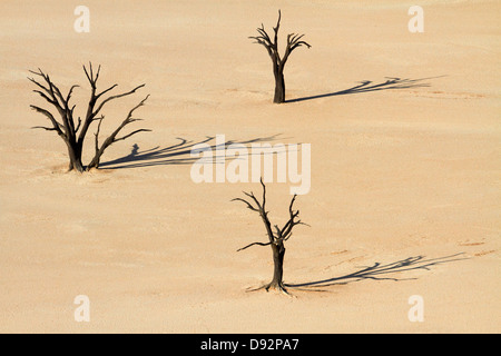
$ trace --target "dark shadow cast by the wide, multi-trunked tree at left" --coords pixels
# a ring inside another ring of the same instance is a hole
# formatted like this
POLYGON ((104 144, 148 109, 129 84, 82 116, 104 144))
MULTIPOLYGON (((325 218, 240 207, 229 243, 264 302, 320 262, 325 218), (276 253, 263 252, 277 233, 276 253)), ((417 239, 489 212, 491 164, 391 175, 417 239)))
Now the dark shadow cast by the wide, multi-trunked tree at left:
POLYGON ((222 149, 224 146, 226 149, 229 145, 249 145, 258 142, 272 142, 275 141, 282 134, 258 137, 248 140, 227 140, 224 145, 212 142, 216 137, 206 137, 199 141, 187 140, 185 138, 177 138, 179 142, 168 147, 155 147, 147 150, 140 150, 137 144, 134 144, 129 155, 101 162, 99 169, 125 169, 125 168, 141 168, 153 166, 169 166, 169 165, 191 165, 199 158, 191 157, 191 151, 197 145, 207 145, 207 149, 216 150, 222 149))

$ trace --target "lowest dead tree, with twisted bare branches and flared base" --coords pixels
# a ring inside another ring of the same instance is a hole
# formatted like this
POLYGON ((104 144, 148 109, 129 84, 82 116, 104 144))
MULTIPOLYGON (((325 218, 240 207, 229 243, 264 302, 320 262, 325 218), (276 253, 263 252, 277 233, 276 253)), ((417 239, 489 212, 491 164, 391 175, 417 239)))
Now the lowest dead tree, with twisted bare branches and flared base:
MULTIPOLYGON (((284 225, 283 228, 279 228, 277 225, 274 225, 272 227, 272 222, 268 218, 268 211, 266 211, 266 187, 263 182, 263 179, 261 179, 261 185, 263 186, 263 201, 259 202, 259 200, 254 196, 253 192, 245 192, 244 194, 249 197, 252 200, 246 200, 243 198, 235 198, 232 201, 243 201, 246 204, 247 208, 256 211, 259 214, 261 219, 263 220, 263 224, 266 229, 266 235, 268 237, 267 243, 253 243, 250 245, 247 245, 237 251, 244 250, 246 248, 249 248, 252 246, 271 246, 273 251, 273 264, 274 264, 274 270, 273 270, 273 279, 269 284, 264 285, 261 288, 257 289, 266 289, 268 291, 271 288, 276 289, 278 291, 287 293, 287 289, 285 288, 283 276, 284 276, 284 256, 285 256, 285 246, 284 243, 288 240, 292 236, 293 228, 296 225, 306 225, 299 220, 299 210, 294 210, 294 201, 296 200, 296 195, 291 200, 291 205, 288 206, 288 212, 289 212, 289 219, 284 225)), ((256 290, 257 290, 256 289, 256 290)))

